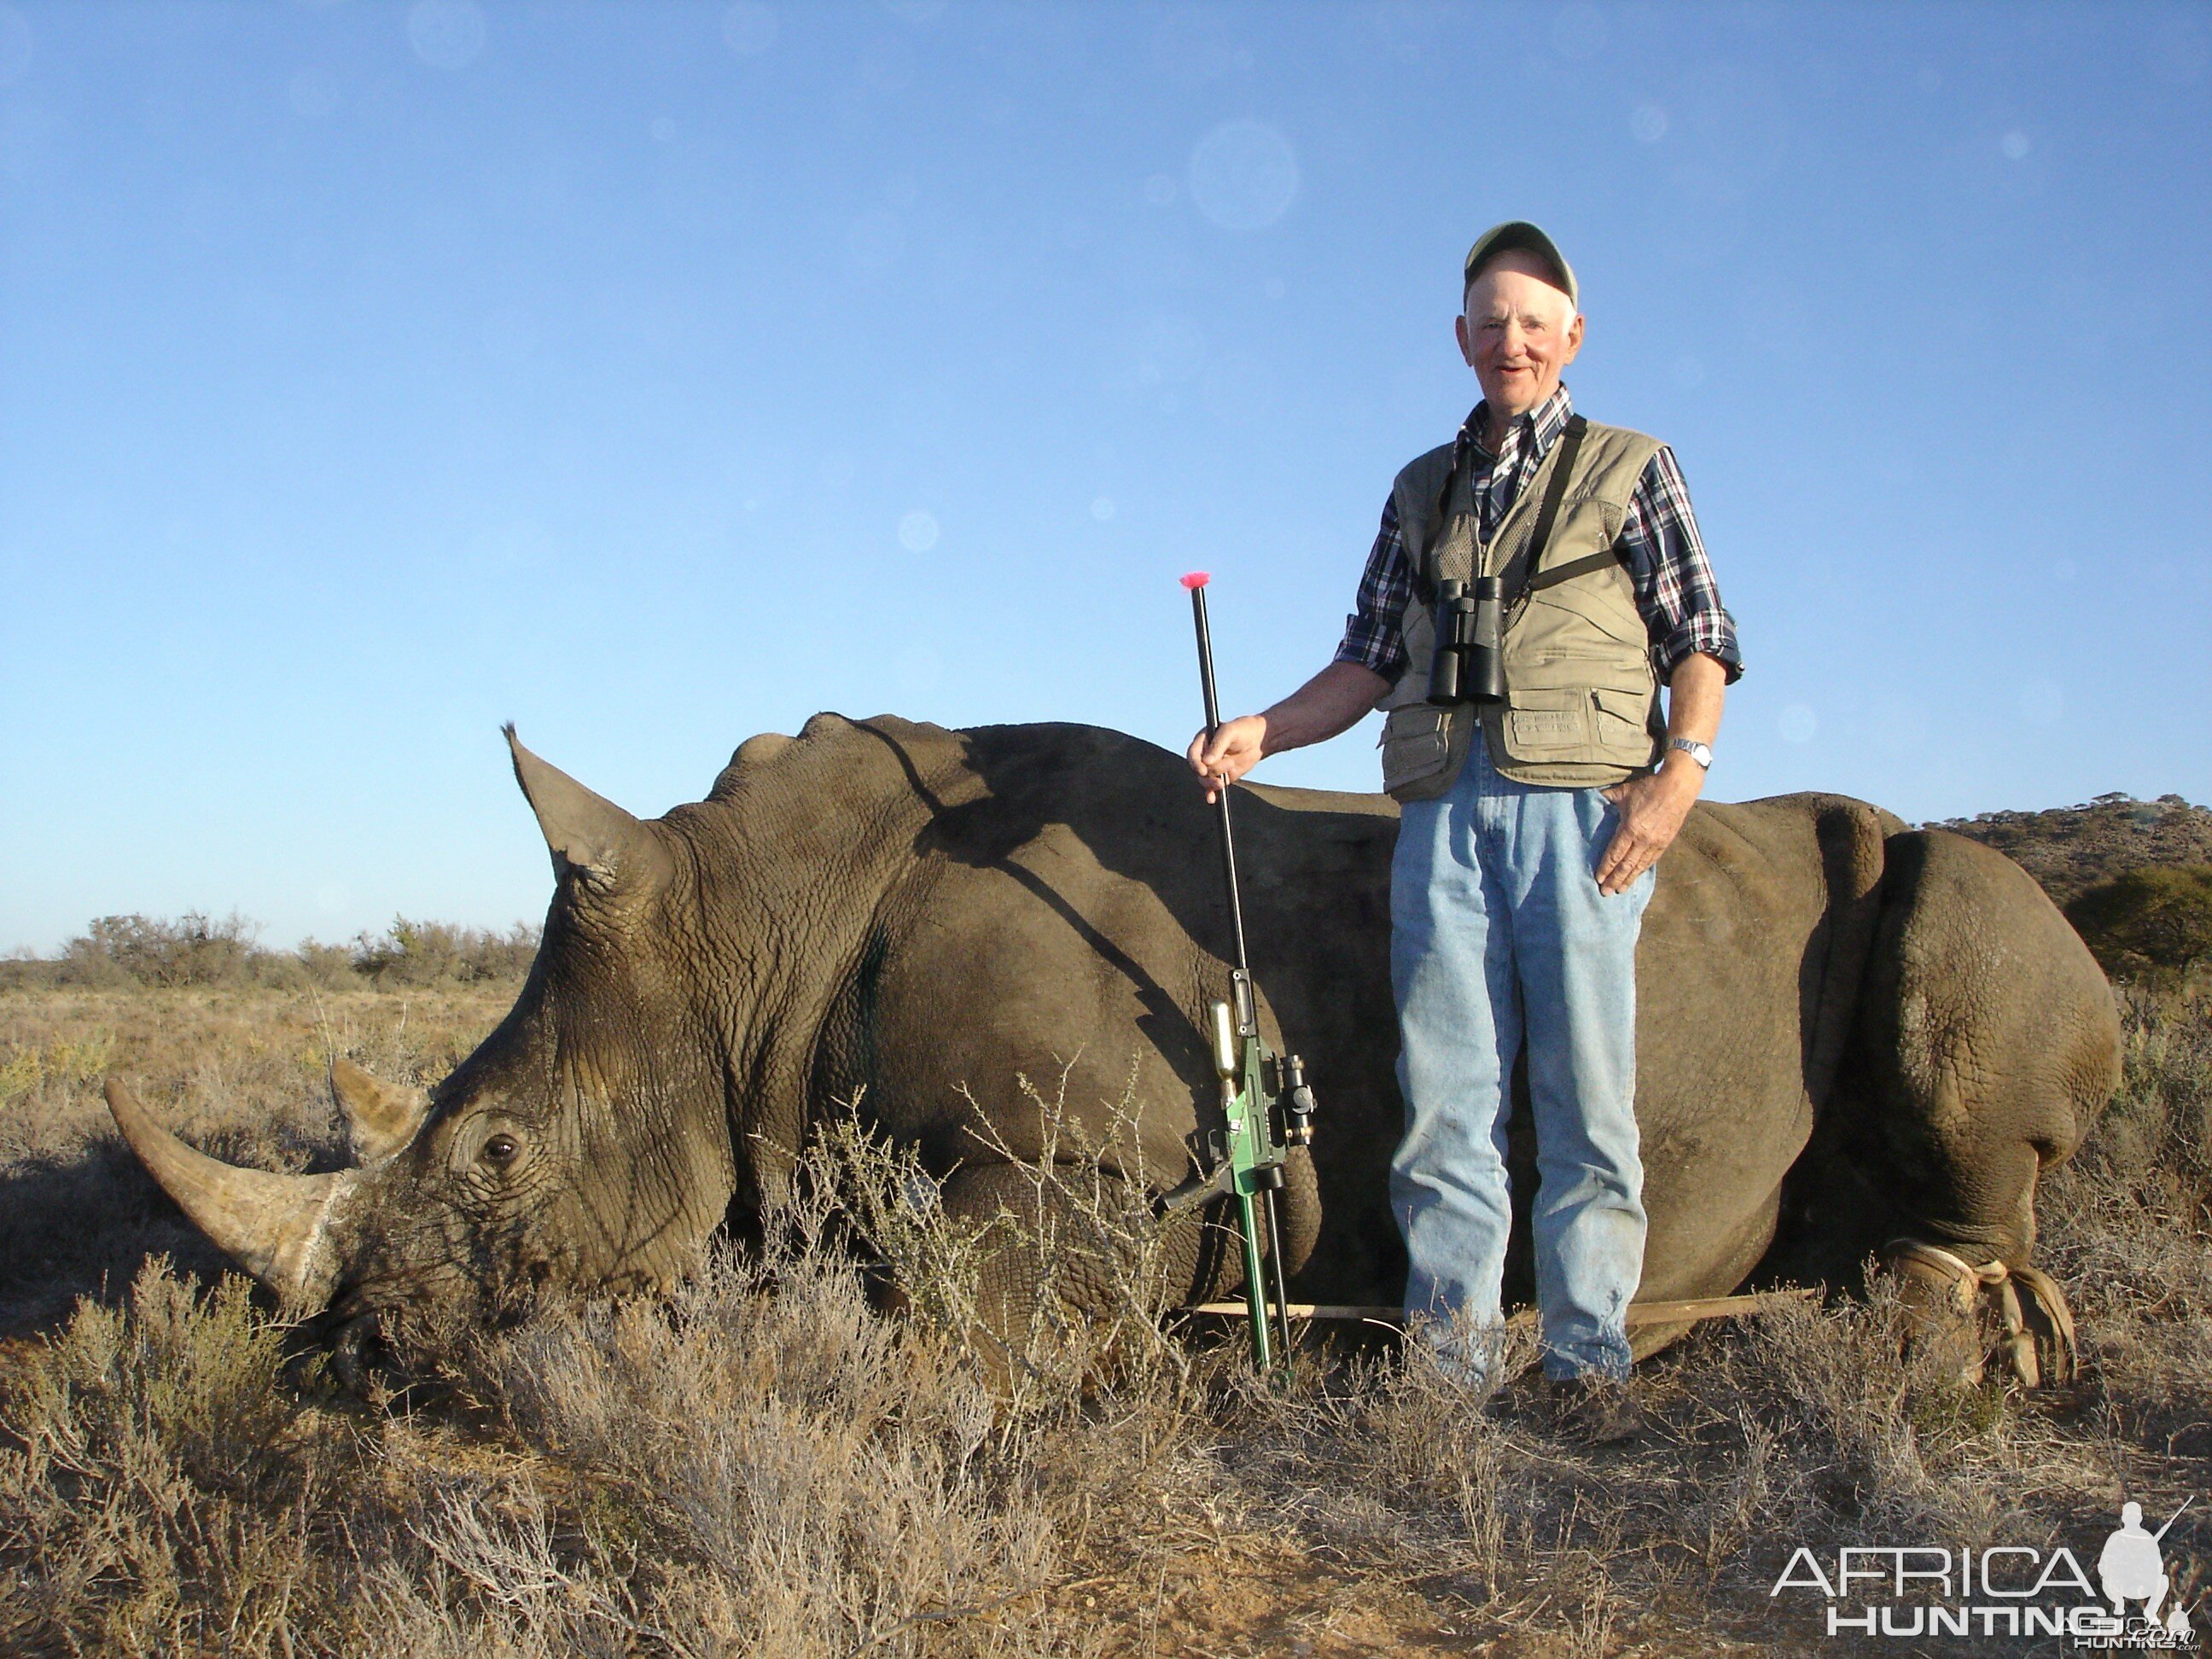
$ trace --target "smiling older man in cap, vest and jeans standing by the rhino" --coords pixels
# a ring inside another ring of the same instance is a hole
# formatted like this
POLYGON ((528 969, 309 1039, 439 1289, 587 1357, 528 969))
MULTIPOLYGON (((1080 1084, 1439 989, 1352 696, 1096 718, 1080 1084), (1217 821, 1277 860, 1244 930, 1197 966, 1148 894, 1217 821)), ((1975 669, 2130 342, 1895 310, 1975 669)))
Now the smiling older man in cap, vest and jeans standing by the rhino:
POLYGON ((1482 403, 1398 473, 1336 659, 1267 712, 1199 732, 1190 763, 1212 799, 1267 754, 1389 712, 1407 1316, 1489 1380, 1526 1057, 1544 1371, 1617 1416, 1646 1228, 1637 931, 1743 666, 1672 451, 1573 414, 1559 374, 1584 323, 1551 237, 1495 226, 1462 274, 1455 334, 1482 403), (1433 706, 1438 582, 1480 575, 1504 580, 1506 701, 1433 706))

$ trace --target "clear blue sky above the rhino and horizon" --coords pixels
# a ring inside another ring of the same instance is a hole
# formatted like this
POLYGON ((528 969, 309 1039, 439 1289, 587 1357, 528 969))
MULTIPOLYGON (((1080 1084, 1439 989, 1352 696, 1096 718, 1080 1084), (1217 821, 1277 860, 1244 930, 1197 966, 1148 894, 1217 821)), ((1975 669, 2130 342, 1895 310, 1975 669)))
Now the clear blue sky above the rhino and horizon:
MULTIPOLYGON (((1584 283, 1712 794, 2212 799, 2205 4, 0 4, 0 949, 535 918, 818 708, 1181 745, 1584 283)), ((1374 734, 1270 761, 1376 787, 1374 734)), ((1206 856, 1194 849, 1194 856, 1206 856)))

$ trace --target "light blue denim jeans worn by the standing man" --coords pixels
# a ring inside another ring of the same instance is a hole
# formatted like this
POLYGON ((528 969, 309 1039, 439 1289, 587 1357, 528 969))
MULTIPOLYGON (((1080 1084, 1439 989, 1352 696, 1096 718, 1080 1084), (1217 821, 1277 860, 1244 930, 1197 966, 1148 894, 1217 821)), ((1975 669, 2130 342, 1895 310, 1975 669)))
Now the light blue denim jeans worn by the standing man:
POLYGON ((1619 821, 1597 790, 1502 779, 1480 732, 1438 801, 1409 801, 1391 865, 1391 989, 1405 1141, 1391 1210, 1405 1310, 1475 1380, 1502 1325, 1506 1119, 1526 1044, 1535 1113, 1535 1296, 1544 1371, 1628 1374, 1644 1276, 1637 1157, 1637 933, 1652 894, 1597 891, 1619 821))

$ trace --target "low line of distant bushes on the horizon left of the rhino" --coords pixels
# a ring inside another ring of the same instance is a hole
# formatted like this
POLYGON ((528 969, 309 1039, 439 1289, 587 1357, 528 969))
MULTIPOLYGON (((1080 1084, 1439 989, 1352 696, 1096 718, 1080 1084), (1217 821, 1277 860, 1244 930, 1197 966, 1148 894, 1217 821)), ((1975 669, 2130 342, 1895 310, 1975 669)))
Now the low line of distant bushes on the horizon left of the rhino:
POLYGON ((520 980, 538 956, 538 929, 465 927, 392 918, 383 933, 352 945, 301 940, 296 951, 261 945, 261 922, 232 911, 208 916, 100 916, 60 956, 0 962, 0 984, 84 987, 429 987, 520 980))

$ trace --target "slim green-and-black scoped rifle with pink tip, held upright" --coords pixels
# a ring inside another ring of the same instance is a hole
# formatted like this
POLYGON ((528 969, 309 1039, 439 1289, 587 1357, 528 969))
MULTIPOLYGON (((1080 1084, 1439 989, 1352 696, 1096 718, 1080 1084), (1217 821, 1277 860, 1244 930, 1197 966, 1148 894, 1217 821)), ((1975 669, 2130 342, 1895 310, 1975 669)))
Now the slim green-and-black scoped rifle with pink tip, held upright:
MULTIPOLYGON (((1206 737, 1221 728, 1221 703, 1214 697, 1214 641, 1206 624, 1206 575, 1183 577, 1190 588, 1190 615, 1199 633, 1199 686, 1206 692, 1206 737)), ((1230 933, 1237 967, 1230 971, 1230 1000, 1214 1002, 1212 1057, 1221 1082, 1221 1128, 1208 1137, 1212 1172, 1206 1186, 1225 1192, 1237 1210, 1237 1234, 1243 1243, 1245 1318, 1252 1327, 1252 1365, 1261 1371, 1290 1367, 1290 1283, 1283 1270, 1283 1230, 1274 1194, 1283 1188, 1283 1159, 1290 1144, 1312 1146, 1314 1093, 1305 1086, 1298 1055, 1276 1060, 1259 1035, 1259 998, 1252 993, 1252 964, 1245 956, 1243 898, 1237 889, 1237 834, 1230 825, 1230 790, 1214 794, 1221 810, 1221 876, 1230 900, 1230 933), (1279 1104, 1283 1113, 1279 1115, 1279 1104), (1283 1117, 1290 1119, 1287 1128, 1283 1117), (1261 1228, 1267 1254, 1261 1259, 1261 1228), (1272 1332, 1270 1332, 1272 1323, 1272 1332)))

